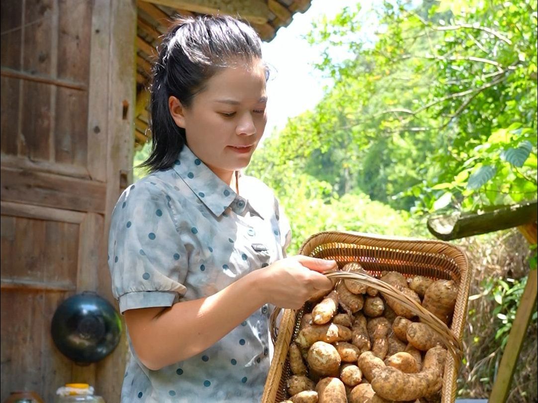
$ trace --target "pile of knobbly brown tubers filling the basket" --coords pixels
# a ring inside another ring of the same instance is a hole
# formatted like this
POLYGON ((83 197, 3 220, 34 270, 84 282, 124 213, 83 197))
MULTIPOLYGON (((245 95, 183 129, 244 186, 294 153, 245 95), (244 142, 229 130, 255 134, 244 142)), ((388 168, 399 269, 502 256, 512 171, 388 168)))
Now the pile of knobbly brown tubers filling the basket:
MULTIPOLYGON (((343 270, 364 272, 355 262, 343 270)), ((380 280, 450 324, 458 292, 454 281, 406 279, 398 272, 383 272, 380 280)), ((292 375, 286 381, 289 398, 282 403, 440 400, 447 350, 398 300, 345 279, 312 305, 289 346, 292 375)))

